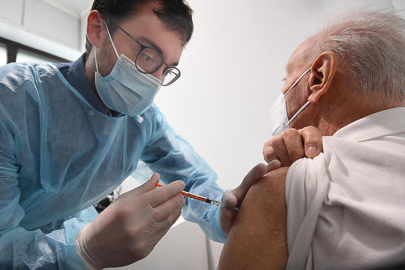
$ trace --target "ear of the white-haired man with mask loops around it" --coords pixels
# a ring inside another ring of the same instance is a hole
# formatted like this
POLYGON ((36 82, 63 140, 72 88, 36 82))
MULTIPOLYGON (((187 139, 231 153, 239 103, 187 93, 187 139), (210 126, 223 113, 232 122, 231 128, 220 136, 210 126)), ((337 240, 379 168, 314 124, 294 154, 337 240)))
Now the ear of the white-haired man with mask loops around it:
POLYGON ((334 52, 323 52, 313 62, 309 73, 309 89, 312 92, 308 98, 310 103, 318 101, 325 94, 336 73, 338 58, 334 52))

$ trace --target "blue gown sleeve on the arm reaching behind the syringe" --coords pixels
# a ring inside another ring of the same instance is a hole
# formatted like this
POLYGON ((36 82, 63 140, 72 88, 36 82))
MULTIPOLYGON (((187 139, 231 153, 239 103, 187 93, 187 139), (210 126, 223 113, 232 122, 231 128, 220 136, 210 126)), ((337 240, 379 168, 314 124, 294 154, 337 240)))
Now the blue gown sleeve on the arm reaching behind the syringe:
MULTIPOLYGON (((152 111, 151 120, 147 123, 148 140, 141 161, 151 171, 159 173, 166 184, 183 180, 185 191, 221 201, 224 190, 216 183, 217 174, 190 143, 176 134, 159 109, 154 104, 152 106, 153 110, 149 110, 152 111)), ((140 167, 138 175, 146 172, 146 168, 140 167)), ((198 223, 210 239, 225 242, 226 236, 219 225, 219 207, 186 198, 183 217, 198 223)))

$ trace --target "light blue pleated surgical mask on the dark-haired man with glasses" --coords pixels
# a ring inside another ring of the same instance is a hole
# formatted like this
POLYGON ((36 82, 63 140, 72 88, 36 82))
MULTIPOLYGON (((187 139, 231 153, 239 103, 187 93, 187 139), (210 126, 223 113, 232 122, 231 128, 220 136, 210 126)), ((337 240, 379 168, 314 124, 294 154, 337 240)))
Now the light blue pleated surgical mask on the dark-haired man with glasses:
MULTIPOLYGON (((105 26, 107 27, 107 24, 105 26)), ((152 104, 160 89, 161 81, 150 74, 140 72, 134 61, 124 54, 118 56, 108 27, 107 32, 118 61, 109 75, 101 76, 98 71, 96 48, 94 48, 97 92, 104 104, 112 110, 130 117, 142 114, 152 104)))

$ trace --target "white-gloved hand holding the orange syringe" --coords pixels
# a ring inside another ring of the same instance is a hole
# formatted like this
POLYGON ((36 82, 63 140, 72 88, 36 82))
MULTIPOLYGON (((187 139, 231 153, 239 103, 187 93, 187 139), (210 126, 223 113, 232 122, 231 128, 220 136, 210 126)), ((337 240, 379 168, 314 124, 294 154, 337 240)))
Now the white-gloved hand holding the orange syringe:
POLYGON ((85 263, 95 269, 125 266, 145 258, 168 232, 185 204, 183 181, 154 188, 157 173, 118 197, 76 237, 85 263))

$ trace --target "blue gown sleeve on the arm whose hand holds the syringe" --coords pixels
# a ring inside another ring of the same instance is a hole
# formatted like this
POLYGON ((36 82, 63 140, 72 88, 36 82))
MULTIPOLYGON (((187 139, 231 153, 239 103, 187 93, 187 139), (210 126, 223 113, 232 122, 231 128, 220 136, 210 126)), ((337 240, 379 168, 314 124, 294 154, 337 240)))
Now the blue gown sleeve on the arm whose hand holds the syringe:
POLYGON ((75 237, 89 222, 73 218, 49 234, 19 226, 25 213, 15 154, 15 133, 0 119, 0 269, 86 269, 75 237))

